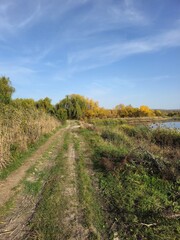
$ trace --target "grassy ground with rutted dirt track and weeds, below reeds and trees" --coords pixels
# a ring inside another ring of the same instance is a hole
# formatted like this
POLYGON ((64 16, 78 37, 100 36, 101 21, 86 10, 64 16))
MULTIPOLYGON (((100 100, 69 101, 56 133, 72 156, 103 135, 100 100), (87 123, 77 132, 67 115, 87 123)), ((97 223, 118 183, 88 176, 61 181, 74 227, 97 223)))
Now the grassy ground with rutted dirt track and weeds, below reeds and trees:
POLYGON ((179 238, 179 132, 97 119, 46 141, 0 182, 1 239, 179 238))

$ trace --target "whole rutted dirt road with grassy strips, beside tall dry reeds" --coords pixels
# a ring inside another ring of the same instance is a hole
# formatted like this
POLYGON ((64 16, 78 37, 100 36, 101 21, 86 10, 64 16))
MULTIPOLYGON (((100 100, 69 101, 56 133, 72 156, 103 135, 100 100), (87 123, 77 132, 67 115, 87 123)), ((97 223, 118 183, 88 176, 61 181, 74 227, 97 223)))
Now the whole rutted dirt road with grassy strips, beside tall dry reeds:
MULTIPOLYGON (((91 180, 84 167, 81 173, 77 170, 81 152, 75 146, 79 141, 79 127, 75 121, 68 122, 66 127, 54 134, 19 169, 0 182, 1 240, 86 240, 92 239, 92 235, 99 236, 93 222, 96 212, 93 213, 91 209, 94 205, 91 202, 91 180), (65 140, 67 135, 68 142, 65 140), (30 191, 26 192, 26 188, 30 191), (48 193, 47 197, 44 192, 48 193), (87 199, 81 199, 80 194, 82 198, 86 198, 86 193, 87 199), (88 204, 92 206, 89 207, 88 204), (88 212, 85 213, 86 211, 88 212), (46 227, 46 224, 49 226, 46 227)), ((86 150, 83 151, 86 159, 86 150)))

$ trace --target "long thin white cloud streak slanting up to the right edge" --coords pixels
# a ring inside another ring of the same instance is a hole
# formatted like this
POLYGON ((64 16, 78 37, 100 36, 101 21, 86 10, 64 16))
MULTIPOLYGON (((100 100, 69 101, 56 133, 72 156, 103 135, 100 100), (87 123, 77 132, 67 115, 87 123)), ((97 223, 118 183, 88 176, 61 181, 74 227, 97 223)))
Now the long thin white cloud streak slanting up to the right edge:
POLYGON ((69 53, 68 63, 74 70, 86 70, 116 62, 127 56, 180 46, 180 28, 156 36, 127 40, 69 53))

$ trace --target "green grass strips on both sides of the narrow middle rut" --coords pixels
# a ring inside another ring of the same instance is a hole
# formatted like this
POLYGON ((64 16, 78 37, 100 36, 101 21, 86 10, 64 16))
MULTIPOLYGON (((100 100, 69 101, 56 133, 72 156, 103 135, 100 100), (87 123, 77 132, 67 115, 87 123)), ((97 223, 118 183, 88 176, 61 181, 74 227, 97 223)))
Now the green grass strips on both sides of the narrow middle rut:
MULTIPOLYGON (((98 240, 105 236, 104 213, 101 208, 93 180, 87 169, 87 162, 84 151, 81 149, 79 139, 71 138, 67 133, 61 152, 57 156, 55 166, 49 172, 46 184, 42 190, 40 199, 34 217, 30 223, 30 234, 26 239, 69 239, 71 237, 71 225, 66 223, 66 215, 69 207, 69 199, 65 196, 68 183, 67 151, 72 142, 76 151, 76 183, 79 207, 78 220, 85 229, 89 229, 88 239, 98 240)), ((31 169, 34 172, 34 169, 31 169)), ((41 179, 41 176, 40 176, 41 179)), ((39 181, 39 180, 38 180, 39 181)), ((73 180, 74 181, 74 180, 73 180)), ((37 185, 26 183, 27 191, 36 193, 37 185)), ((75 196, 72 196, 75 197, 75 196)), ((71 200, 70 200, 71 201, 71 200)), ((72 199, 73 201, 73 199, 72 199)), ((75 200, 76 201, 76 200, 75 200)), ((106 238, 104 238, 106 239, 106 238)))

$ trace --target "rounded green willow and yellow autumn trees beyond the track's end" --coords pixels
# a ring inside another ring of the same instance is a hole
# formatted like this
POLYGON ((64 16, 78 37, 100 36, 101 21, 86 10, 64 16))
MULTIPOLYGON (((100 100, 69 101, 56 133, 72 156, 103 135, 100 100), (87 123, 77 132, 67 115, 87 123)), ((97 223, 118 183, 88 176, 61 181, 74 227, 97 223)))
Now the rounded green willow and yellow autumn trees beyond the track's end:
POLYGON ((161 117, 159 110, 152 110, 147 106, 134 108, 131 105, 120 104, 114 109, 105 109, 98 102, 85 98, 78 94, 66 96, 58 104, 57 109, 66 110, 68 119, 91 119, 91 118, 136 118, 136 117, 161 117))

